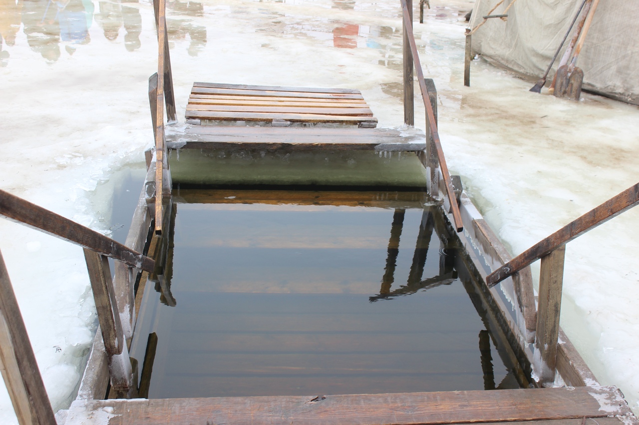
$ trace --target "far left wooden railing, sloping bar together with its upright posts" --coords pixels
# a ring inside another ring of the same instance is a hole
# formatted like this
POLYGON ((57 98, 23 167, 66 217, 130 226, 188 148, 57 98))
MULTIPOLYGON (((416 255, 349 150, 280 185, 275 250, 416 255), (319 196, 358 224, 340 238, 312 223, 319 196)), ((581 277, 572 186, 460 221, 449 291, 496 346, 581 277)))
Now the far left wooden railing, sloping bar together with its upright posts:
POLYGON ((168 170, 166 158, 166 136, 164 133, 164 105, 169 121, 176 121, 175 97, 173 93, 173 73, 166 29, 166 0, 154 0, 155 26, 158 34, 158 71, 149 78, 149 101, 153 136, 155 137, 155 233, 162 234, 162 200, 168 170))

